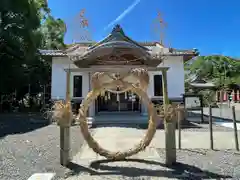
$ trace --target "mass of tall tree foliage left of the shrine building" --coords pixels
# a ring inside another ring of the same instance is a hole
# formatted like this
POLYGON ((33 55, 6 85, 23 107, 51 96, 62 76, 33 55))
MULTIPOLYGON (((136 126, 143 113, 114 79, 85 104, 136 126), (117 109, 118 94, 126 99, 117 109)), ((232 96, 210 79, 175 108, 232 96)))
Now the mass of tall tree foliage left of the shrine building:
POLYGON ((34 93, 50 81, 50 64, 39 49, 61 49, 65 24, 51 16, 47 0, 2 0, 0 5, 0 96, 29 84, 34 93))

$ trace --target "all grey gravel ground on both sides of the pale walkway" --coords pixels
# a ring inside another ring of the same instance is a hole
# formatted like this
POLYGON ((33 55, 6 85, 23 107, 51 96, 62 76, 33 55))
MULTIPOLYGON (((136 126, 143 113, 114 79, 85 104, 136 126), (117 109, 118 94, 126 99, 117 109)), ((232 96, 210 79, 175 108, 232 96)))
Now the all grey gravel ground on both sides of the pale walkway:
MULTIPOLYGON (((146 127, 141 128, 144 129, 146 127)), ((189 126, 183 130, 208 131, 208 125, 193 124, 193 126, 189 126)), ((230 128, 221 126, 214 126, 213 130, 232 131, 230 128)), ((83 142, 79 127, 73 126, 71 128, 72 155, 75 155, 80 150, 83 142)), ((164 150, 160 149, 158 152, 160 157, 162 156, 161 158, 164 158, 164 150)), ((182 150, 178 151, 178 161, 182 164, 179 164, 179 166, 174 169, 176 173, 182 173, 183 170, 181 170, 181 168, 190 168, 190 171, 194 172, 203 169, 216 174, 220 173, 234 177, 236 177, 236 173, 238 173, 240 178, 240 155, 231 151, 213 152, 198 150, 196 152, 195 150, 182 150)), ((149 166, 151 169, 151 165, 149 166)), ((54 180, 59 180, 64 179, 64 176, 71 173, 72 170, 72 168, 69 170, 62 167, 59 163, 59 128, 56 125, 47 125, 44 123, 32 124, 29 122, 28 116, 9 117, 0 115, 1 180, 26 180, 32 174, 40 172, 55 172, 56 176, 54 180)), ((139 170, 136 167, 135 169, 134 167, 130 169, 122 167, 117 170, 119 173, 123 173, 121 176, 124 176, 124 173, 128 171, 133 174, 143 171, 143 169, 139 170)), ((144 172, 152 173, 150 176, 154 176, 154 172, 152 171, 146 170, 144 172)), ((186 174, 188 172, 184 173, 186 174)), ((211 176, 214 176, 214 174, 211 176)), ((216 175, 214 177, 216 177, 216 175)), ((106 179, 109 178, 106 177, 106 179)), ((133 179, 132 176, 131 179, 133 179)), ((139 178, 136 177, 136 179, 139 178)))

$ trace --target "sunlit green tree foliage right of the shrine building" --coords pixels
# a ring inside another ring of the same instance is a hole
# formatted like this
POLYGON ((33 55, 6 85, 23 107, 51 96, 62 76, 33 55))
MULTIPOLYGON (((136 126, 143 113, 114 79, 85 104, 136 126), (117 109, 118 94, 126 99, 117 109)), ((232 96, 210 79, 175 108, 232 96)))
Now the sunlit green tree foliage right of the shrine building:
POLYGON ((185 64, 188 77, 215 83, 218 88, 240 84, 240 61, 227 56, 199 56, 185 64))

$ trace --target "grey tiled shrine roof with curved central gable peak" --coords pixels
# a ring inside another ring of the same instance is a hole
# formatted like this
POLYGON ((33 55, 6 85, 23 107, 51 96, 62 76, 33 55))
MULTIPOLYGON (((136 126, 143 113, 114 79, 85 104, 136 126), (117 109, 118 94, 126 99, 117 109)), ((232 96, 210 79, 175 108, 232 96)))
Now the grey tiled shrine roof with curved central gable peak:
MULTIPOLYGON (((144 54, 149 54, 152 57, 157 57, 159 54, 161 55, 173 55, 173 56, 179 56, 179 55, 190 55, 190 56, 196 56, 197 51, 196 50, 177 50, 173 48, 166 48, 162 44, 158 42, 136 42, 129 38, 127 35, 125 35, 123 29, 120 25, 116 25, 112 32, 105 37, 103 40, 99 42, 81 42, 77 44, 68 45, 67 49, 65 50, 40 50, 40 53, 45 56, 66 56, 66 55, 72 55, 72 56, 78 56, 78 57, 84 57, 85 55, 92 54, 93 52, 96 52, 102 48, 133 48, 133 49, 139 49, 140 52, 143 52, 144 54)), ((189 59, 189 58, 188 58, 189 59)))

